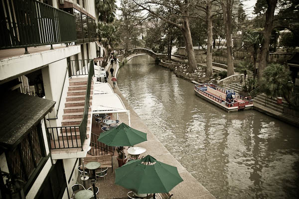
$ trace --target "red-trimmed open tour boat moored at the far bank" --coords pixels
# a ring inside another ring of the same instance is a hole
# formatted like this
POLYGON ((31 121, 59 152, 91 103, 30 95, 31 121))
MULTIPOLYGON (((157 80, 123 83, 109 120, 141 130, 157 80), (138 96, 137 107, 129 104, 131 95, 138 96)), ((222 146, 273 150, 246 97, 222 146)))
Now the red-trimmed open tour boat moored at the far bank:
POLYGON ((234 90, 226 90, 214 84, 195 85, 194 91, 197 96, 228 112, 253 108, 251 97, 237 95, 234 90))

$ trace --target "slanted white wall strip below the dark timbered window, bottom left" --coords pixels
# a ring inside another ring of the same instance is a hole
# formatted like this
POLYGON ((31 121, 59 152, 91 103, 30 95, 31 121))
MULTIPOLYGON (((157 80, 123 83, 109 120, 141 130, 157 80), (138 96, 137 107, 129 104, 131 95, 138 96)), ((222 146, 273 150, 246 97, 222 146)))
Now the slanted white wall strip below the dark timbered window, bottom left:
POLYGON ((41 184, 43 183, 44 179, 46 178, 47 174, 50 171, 52 164, 51 159, 49 158, 46 162, 45 166, 39 173, 38 177, 36 178, 35 182, 33 183, 31 189, 29 190, 28 194, 26 195, 26 199, 34 199, 36 193, 38 192, 41 184))

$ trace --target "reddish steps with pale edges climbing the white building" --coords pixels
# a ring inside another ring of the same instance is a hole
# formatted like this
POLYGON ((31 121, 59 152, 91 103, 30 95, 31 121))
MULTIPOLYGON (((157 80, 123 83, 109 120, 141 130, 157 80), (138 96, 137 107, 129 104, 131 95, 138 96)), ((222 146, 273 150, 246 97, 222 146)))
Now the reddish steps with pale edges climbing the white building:
MULTIPOLYGON (((91 105, 92 101, 92 90, 93 82, 91 83, 91 93, 89 104, 91 105)), ((72 78, 69 79, 69 87, 65 102, 64 114, 61 121, 61 130, 59 134, 59 141, 55 140, 55 145, 65 146, 65 148, 76 148, 81 147, 80 141, 80 130, 79 127, 70 127, 75 125, 80 125, 83 114, 84 114, 84 105, 85 105, 85 95, 87 87, 87 78, 72 78)), ((89 138, 90 133, 90 113, 91 107, 89 107, 89 116, 87 120, 86 135, 89 138)), ((51 140, 51 145, 54 146, 54 141, 51 140)))

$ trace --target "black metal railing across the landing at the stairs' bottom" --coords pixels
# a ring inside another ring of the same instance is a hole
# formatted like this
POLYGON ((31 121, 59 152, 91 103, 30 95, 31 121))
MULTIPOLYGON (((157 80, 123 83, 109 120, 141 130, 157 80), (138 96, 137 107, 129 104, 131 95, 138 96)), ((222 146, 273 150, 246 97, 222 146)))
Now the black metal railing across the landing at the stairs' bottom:
POLYGON ((79 125, 47 127, 46 129, 50 135, 51 149, 82 147, 79 125))

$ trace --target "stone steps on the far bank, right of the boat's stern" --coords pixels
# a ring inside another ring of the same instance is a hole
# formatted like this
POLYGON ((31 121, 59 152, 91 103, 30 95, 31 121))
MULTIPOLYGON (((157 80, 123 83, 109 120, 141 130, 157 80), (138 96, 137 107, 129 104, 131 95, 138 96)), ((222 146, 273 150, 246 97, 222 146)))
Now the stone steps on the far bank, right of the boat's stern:
POLYGON ((277 103, 276 99, 270 99, 265 94, 260 94, 255 97, 253 106, 255 108, 268 109, 269 111, 279 115, 284 113, 283 103, 277 103))

